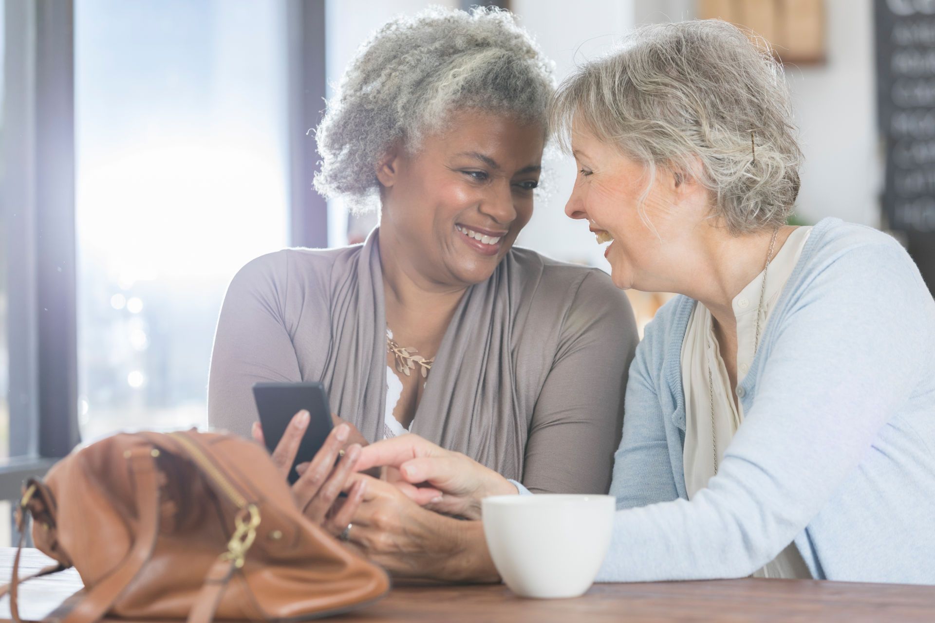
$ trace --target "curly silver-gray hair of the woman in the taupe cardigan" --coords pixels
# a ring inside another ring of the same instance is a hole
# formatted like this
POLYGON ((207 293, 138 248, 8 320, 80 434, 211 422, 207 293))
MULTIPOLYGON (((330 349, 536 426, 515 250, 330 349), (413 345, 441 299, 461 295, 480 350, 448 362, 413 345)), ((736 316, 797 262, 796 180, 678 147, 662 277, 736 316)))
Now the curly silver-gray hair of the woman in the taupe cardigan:
POLYGON ((316 130, 315 189, 375 205, 376 163, 397 140, 418 149, 454 109, 477 108, 542 124, 554 91, 552 63, 510 12, 432 7, 383 25, 360 47, 316 130))

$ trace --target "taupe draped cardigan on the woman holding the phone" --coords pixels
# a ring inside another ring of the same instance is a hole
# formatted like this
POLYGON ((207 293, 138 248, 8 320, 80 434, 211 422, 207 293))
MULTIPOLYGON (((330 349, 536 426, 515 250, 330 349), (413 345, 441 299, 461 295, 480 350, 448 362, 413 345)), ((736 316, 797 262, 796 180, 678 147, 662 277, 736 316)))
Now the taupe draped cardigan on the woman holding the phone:
MULTIPOLYGON (((379 229, 362 246, 284 249, 242 268, 211 356, 209 423, 242 435, 259 381, 322 381, 333 411, 381 438, 386 342, 379 229)), ((468 289, 410 432, 538 492, 603 493, 638 337, 594 268, 513 248, 468 289)))

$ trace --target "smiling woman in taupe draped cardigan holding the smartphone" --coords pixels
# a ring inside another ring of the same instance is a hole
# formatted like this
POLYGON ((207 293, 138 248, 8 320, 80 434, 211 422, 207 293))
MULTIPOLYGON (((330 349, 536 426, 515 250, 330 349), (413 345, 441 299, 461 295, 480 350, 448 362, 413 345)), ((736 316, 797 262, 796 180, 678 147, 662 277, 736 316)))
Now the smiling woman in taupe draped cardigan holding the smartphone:
MULTIPOLYGON (((255 382, 323 382, 343 421, 299 466, 295 495, 397 574, 496 578, 482 526, 463 520, 476 508, 456 519, 385 480, 344 487, 361 445, 417 433, 502 476, 491 493, 610 486, 638 341, 626 295, 597 269, 513 247, 553 92, 550 63, 508 12, 387 23, 316 135, 317 189, 376 207, 379 228, 363 246, 258 258, 223 303, 210 424, 262 439, 255 382)), ((308 422, 296 416, 274 452, 285 472, 308 422)))

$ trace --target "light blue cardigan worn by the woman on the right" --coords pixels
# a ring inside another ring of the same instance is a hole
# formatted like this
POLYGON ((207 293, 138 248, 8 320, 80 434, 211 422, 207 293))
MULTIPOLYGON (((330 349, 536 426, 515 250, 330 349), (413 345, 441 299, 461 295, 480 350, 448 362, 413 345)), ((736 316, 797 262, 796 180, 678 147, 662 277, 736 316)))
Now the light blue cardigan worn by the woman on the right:
POLYGON ((660 309, 630 367, 598 581, 741 577, 795 540, 816 578, 935 583, 935 303, 908 254, 840 219, 813 228, 741 383, 743 424, 688 502, 695 304, 660 309))

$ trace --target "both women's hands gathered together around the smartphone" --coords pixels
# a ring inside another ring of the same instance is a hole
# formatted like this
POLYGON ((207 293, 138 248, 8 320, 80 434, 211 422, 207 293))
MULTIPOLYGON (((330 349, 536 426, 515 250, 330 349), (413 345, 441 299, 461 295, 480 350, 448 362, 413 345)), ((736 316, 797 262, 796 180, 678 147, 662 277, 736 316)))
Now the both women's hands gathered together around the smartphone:
MULTIPOLYGON (((480 556, 470 551, 477 548, 478 532, 462 530, 462 519, 479 520, 484 497, 515 494, 516 487, 464 454, 418 435, 368 445, 352 424, 333 418, 335 427, 324 446, 296 466, 293 492, 306 517, 335 536, 343 532, 350 545, 392 573, 449 579, 468 573, 464 561, 452 560, 480 556), (381 477, 363 474, 374 468, 381 468, 381 477)), ((272 453, 283 478, 308 426, 309 414, 297 413, 272 453)), ((264 442, 258 422, 252 436, 264 442)))

